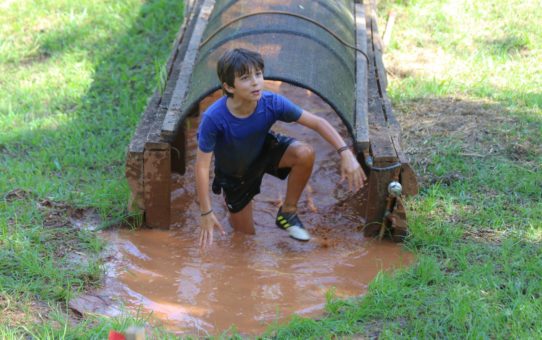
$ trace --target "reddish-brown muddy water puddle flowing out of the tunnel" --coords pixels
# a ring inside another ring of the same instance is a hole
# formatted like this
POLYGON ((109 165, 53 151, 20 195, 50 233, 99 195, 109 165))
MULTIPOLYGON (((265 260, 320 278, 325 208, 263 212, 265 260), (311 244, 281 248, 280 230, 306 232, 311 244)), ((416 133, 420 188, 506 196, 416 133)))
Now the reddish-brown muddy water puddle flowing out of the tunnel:
MULTIPOLYGON (((267 86, 326 117, 346 136, 336 114, 317 96, 277 82, 267 86)), ((412 261, 400 245, 364 239, 359 211, 365 193, 352 195, 345 183, 338 183, 335 150, 295 124, 280 124, 275 130, 316 151, 313 176, 299 204, 312 240, 295 241, 275 227, 286 183, 269 176, 254 202, 256 235, 233 232, 221 197, 212 195, 227 234, 217 235, 215 244, 202 252, 194 200, 196 127, 194 118, 189 124, 187 173, 173 178, 170 230, 117 230, 107 235, 118 250, 107 282, 128 308, 152 311, 169 329, 181 333, 218 334, 236 325, 242 333, 254 334, 292 314, 321 315, 329 289, 340 297, 358 296, 378 271, 412 261)))

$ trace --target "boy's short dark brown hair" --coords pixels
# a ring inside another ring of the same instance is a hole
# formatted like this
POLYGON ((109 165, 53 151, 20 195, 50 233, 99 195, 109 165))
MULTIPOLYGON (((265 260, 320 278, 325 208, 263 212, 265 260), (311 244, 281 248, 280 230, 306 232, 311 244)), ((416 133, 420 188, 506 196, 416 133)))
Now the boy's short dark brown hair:
POLYGON ((251 69, 263 72, 263 68, 264 62, 261 54, 244 48, 235 48, 226 51, 222 57, 220 57, 216 65, 216 73, 218 74, 218 79, 220 79, 222 91, 228 97, 232 97, 233 94, 229 93, 224 88, 224 83, 233 87, 235 76, 239 77, 249 73, 251 69))

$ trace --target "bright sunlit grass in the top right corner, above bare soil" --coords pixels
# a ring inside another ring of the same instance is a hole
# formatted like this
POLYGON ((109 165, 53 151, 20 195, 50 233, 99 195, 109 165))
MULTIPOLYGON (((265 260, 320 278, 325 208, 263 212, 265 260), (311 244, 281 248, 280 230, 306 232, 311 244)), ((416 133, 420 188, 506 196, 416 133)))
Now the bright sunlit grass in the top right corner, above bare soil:
POLYGON ((387 57, 399 67, 405 60, 440 65, 429 74, 396 79, 392 96, 463 94, 542 107, 538 1, 415 1, 389 6, 399 14, 387 57))

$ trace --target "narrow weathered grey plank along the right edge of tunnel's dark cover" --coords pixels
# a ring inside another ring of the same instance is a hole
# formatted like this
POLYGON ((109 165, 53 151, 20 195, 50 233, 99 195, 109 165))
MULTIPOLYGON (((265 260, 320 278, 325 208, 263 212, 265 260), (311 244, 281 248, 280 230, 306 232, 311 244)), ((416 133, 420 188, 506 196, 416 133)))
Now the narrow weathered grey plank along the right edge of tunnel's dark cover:
MULTIPOLYGON (((363 5, 355 4, 355 12, 356 47, 367 54, 367 28, 363 5)), ((367 69, 367 59, 363 54, 356 52, 356 114, 354 116, 354 134, 358 153, 369 148, 367 69)))

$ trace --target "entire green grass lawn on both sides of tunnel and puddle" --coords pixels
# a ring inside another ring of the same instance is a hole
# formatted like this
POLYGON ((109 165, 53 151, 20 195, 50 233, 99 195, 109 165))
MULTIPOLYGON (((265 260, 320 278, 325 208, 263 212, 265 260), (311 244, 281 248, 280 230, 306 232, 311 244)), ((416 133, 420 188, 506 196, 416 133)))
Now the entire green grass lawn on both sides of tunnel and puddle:
MULTIPOLYGON (((264 337, 542 337, 540 5, 381 1, 381 32, 397 12, 388 92, 421 184, 407 201, 417 261, 264 337)), ((104 244, 66 212, 126 216, 126 147, 182 12, 172 0, 0 4, 1 338, 145 323, 70 319, 67 301, 100 282, 104 244)))

